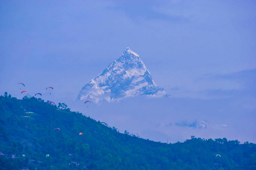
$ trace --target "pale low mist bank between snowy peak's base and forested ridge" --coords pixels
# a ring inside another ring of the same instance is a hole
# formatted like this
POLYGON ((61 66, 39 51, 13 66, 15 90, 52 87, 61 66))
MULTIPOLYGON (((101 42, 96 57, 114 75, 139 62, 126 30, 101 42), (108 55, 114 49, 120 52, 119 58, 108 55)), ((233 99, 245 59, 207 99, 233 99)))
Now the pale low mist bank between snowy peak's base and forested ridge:
POLYGON ((243 107, 227 107, 231 99, 127 97, 112 103, 72 101, 71 109, 94 120, 105 122, 121 133, 152 141, 174 143, 200 138, 227 138, 240 142, 256 142, 253 111, 243 107), (230 109, 232 108, 232 109, 230 109))

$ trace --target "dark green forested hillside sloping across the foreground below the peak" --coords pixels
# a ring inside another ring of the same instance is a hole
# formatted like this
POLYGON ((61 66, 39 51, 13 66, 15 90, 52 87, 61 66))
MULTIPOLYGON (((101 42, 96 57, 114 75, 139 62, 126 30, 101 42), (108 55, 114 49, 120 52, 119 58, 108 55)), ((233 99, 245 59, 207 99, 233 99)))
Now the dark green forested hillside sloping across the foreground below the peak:
POLYGON ((253 143, 148 141, 35 97, 1 96, 0 132, 0 169, 256 169, 253 143))

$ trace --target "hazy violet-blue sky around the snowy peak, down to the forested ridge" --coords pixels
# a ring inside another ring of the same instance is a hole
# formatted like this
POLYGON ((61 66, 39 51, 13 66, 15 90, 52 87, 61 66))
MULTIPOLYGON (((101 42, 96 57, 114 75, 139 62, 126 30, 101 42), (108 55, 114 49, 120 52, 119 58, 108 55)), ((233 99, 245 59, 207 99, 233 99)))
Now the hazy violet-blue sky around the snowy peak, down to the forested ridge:
POLYGON ((0 94, 22 98, 22 82, 30 94, 155 141, 196 134, 256 143, 255 8, 255 1, 234 0, 2 0, 0 94), (127 46, 172 98, 83 110, 75 101, 81 88, 127 46), (119 113, 123 105, 129 109, 119 113), (185 126, 203 120, 207 129, 185 126))

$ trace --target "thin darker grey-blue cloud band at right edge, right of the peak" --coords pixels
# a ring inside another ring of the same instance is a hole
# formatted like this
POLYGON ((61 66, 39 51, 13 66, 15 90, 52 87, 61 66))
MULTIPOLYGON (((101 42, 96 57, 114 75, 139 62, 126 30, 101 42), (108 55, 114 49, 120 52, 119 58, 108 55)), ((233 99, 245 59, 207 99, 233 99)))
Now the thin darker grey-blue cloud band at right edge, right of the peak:
POLYGON ((195 80, 203 86, 199 94, 208 97, 253 97, 256 93, 256 69, 229 74, 206 74, 195 80))

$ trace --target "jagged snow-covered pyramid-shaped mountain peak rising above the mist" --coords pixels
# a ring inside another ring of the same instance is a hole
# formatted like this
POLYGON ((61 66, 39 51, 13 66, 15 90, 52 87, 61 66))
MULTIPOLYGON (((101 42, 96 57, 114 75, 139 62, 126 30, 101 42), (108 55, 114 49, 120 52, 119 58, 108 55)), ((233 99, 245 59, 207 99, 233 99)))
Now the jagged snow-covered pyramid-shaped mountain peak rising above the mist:
POLYGON ((85 84, 77 100, 113 101, 137 95, 170 96, 164 88, 156 86, 138 54, 126 48, 122 56, 85 84))

